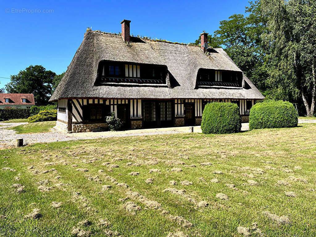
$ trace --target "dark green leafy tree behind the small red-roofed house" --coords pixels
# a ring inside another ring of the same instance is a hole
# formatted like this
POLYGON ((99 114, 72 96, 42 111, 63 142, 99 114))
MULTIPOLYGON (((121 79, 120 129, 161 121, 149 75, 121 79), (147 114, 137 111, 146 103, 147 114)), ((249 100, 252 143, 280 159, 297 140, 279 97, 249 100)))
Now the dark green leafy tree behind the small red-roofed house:
POLYGON ((52 93, 55 72, 41 65, 30 65, 17 75, 11 75, 11 82, 5 85, 8 93, 31 93, 37 105, 46 105, 52 93))

